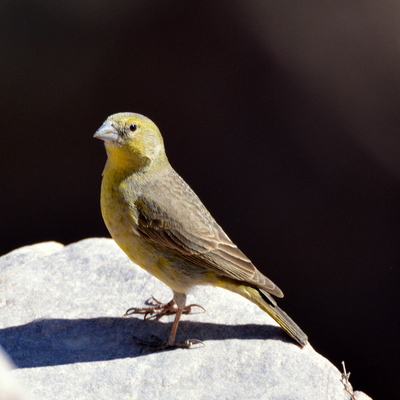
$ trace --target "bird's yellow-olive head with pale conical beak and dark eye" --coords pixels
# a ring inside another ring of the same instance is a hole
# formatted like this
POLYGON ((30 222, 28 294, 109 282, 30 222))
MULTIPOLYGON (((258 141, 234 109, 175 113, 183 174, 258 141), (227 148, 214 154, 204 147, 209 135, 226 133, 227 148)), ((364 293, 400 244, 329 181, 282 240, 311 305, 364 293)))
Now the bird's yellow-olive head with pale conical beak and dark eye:
POLYGON ((117 168, 135 171, 167 163, 161 133, 156 124, 143 115, 113 114, 94 137, 104 140, 109 162, 117 168))

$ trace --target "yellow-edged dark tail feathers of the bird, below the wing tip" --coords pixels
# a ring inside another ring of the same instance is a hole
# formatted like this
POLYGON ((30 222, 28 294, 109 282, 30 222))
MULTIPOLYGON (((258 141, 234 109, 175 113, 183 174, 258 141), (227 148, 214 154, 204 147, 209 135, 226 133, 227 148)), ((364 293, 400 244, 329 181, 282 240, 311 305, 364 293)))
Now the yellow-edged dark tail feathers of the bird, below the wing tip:
POLYGON ((232 292, 238 293, 250 300, 254 304, 257 304, 263 311, 270 315, 285 331, 292 337, 301 347, 308 343, 307 335, 299 328, 299 326, 283 311, 278 307, 273 297, 263 291, 262 289, 256 289, 244 285, 219 285, 228 289, 232 292))

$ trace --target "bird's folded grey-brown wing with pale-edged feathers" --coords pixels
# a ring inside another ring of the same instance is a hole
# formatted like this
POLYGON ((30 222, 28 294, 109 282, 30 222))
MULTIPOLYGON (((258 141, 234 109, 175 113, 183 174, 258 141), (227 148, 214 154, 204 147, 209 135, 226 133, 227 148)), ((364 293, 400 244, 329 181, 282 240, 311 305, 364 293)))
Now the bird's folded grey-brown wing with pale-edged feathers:
POLYGON ((138 198, 139 232, 195 265, 283 297, 282 291, 229 239, 197 195, 184 182, 180 189, 184 193, 169 193, 168 202, 138 198))

